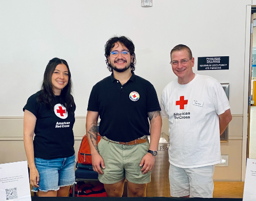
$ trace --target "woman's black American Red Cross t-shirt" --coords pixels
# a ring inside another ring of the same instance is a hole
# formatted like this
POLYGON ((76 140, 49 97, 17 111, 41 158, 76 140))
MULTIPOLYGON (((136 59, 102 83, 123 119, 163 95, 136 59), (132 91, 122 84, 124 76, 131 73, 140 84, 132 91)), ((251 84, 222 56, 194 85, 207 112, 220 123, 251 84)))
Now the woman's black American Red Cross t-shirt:
POLYGON ((32 112, 37 120, 34 138, 34 156, 40 159, 67 158, 75 154, 73 125, 76 105, 72 112, 60 104, 60 96, 54 97, 54 111, 37 102, 40 91, 29 97, 24 110, 32 112))

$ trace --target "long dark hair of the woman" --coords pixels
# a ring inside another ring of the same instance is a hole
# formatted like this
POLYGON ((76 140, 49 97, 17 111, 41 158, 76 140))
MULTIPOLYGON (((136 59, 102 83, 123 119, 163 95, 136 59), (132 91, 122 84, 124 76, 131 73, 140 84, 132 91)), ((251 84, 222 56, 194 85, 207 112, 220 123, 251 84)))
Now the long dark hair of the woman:
POLYGON ((52 88, 52 74, 55 70, 55 67, 59 64, 64 64, 65 66, 67 66, 68 74, 69 74, 68 84, 61 91, 60 103, 63 104, 63 106, 65 106, 67 111, 71 111, 71 106, 75 104, 74 99, 71 95, 72 80, 71 80, 69 65, 64 59, 53 58, 52 60, 49 61, 45 69, 44 80, 43 80, 43 84, 40 91, 41 93, 39 93, 37 97, 37 102, 44 104, 46 107, 48 107, 52 111, 54 110, 55 95, 53 93, 53 88, 52 88))

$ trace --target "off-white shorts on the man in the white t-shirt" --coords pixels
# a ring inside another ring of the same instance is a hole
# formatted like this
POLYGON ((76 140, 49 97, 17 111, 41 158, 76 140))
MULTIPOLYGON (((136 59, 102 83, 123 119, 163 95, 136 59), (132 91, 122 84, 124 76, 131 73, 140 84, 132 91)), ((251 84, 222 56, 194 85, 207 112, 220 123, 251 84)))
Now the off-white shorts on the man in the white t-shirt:
POLYGON ((212 198, 215 165, 200 168, 179 168, 170 164, 169 180, 172 197, 212 198))

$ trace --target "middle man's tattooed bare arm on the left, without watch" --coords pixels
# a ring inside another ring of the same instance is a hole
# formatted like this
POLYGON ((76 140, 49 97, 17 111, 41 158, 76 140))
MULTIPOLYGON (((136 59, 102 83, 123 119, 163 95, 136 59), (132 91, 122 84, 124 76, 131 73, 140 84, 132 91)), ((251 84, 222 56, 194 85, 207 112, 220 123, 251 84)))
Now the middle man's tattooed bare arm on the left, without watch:
POLYGON ((105 165, 101 155, 98 153, 97 122, 98 122, 98 112, 87 111, 86 135, 87 135, 88 143, 90 146, 90 153, 92 154, 93 170, 98 172, 99 174, 103 174, 101 170, 101 166, 102 168, 105 168, 105 165))

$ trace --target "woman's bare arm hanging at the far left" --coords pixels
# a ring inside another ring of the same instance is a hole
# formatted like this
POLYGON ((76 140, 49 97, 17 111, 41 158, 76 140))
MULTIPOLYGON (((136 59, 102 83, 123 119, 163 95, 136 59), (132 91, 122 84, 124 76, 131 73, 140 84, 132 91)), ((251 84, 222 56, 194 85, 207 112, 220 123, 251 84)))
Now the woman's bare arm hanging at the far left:
POLYGON ((30 169, 30 183, 34 187, 39 187, 39 173, 36 169, 35 158, 34 158, 34 146, 33 146, 33 136, 36 126, 35 115, 28 111, 24 111, 24 122, 23 122, 23 141, 25 152, 28 159, 28 165, 30 169))

